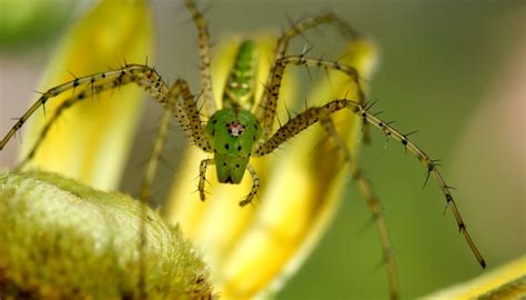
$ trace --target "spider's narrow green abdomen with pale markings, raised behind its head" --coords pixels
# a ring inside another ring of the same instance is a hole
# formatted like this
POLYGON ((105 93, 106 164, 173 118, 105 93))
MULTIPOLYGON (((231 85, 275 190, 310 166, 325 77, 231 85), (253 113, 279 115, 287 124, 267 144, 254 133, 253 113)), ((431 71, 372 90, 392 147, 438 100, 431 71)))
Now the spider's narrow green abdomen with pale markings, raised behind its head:
POLYGON ((223 107, 251 109, 254 104, 254 77, 257 51, 253 41, 243 41, 224 87, 223 107))

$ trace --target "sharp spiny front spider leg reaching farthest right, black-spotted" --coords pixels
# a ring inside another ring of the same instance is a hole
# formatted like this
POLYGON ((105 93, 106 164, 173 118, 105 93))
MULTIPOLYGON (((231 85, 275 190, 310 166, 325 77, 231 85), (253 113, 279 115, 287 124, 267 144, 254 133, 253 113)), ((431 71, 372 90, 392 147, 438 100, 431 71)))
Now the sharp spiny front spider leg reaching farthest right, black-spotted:
POLYGON ((455 201, 453 200, 451 190, 448 186, 445 183, 444 179, 442 178, 442 174, 436 168, 435 162, 421 148, 418 148, 415 143, 409 141, 406 136, 402 134, 398 130, 394 129, 385 121, 382 121, 381 119, 376 118, 373 113, 368 112, 358 102, 351 101, 347 99, 336 99, 322 107, 310 108, 303 113, 289 120, 289 122, 286 122, 284 126, 282 126, 267 141, 265 141, 263 144, 260 144, 255 149, 254 154, 265 156, 265 154, 271 153, 284 141, 300 133, 301 131, 312 126, 313 123, 320 121, 318 110, 323 109, 324 111, 326 111, 326 113, 332 114, 344 108, 347 108, 353 113, 361 116, 364 119, 364 121, 381 129, 387 137, 392 137, 398 142, 401 142, 411 153, 413 153, 418 159, 418 161, 422 164, 424 164, 427 171, 433 174, 444 197, 446 198, 446 202, 449 209, 452 210, 453 216, 455 217, 456 223, 458 226, 458 230, 464 236, 466 242, 472 249, 472 252, 474 253, 481 267, 485 268, 486 262, 484 258, 482 257, 481 252, 478 251, 477 247, 475 246, 475 242, 472 240, 466 229, 466 224, 464 223, 464 220, 461 217, 458 208, 455 201))

